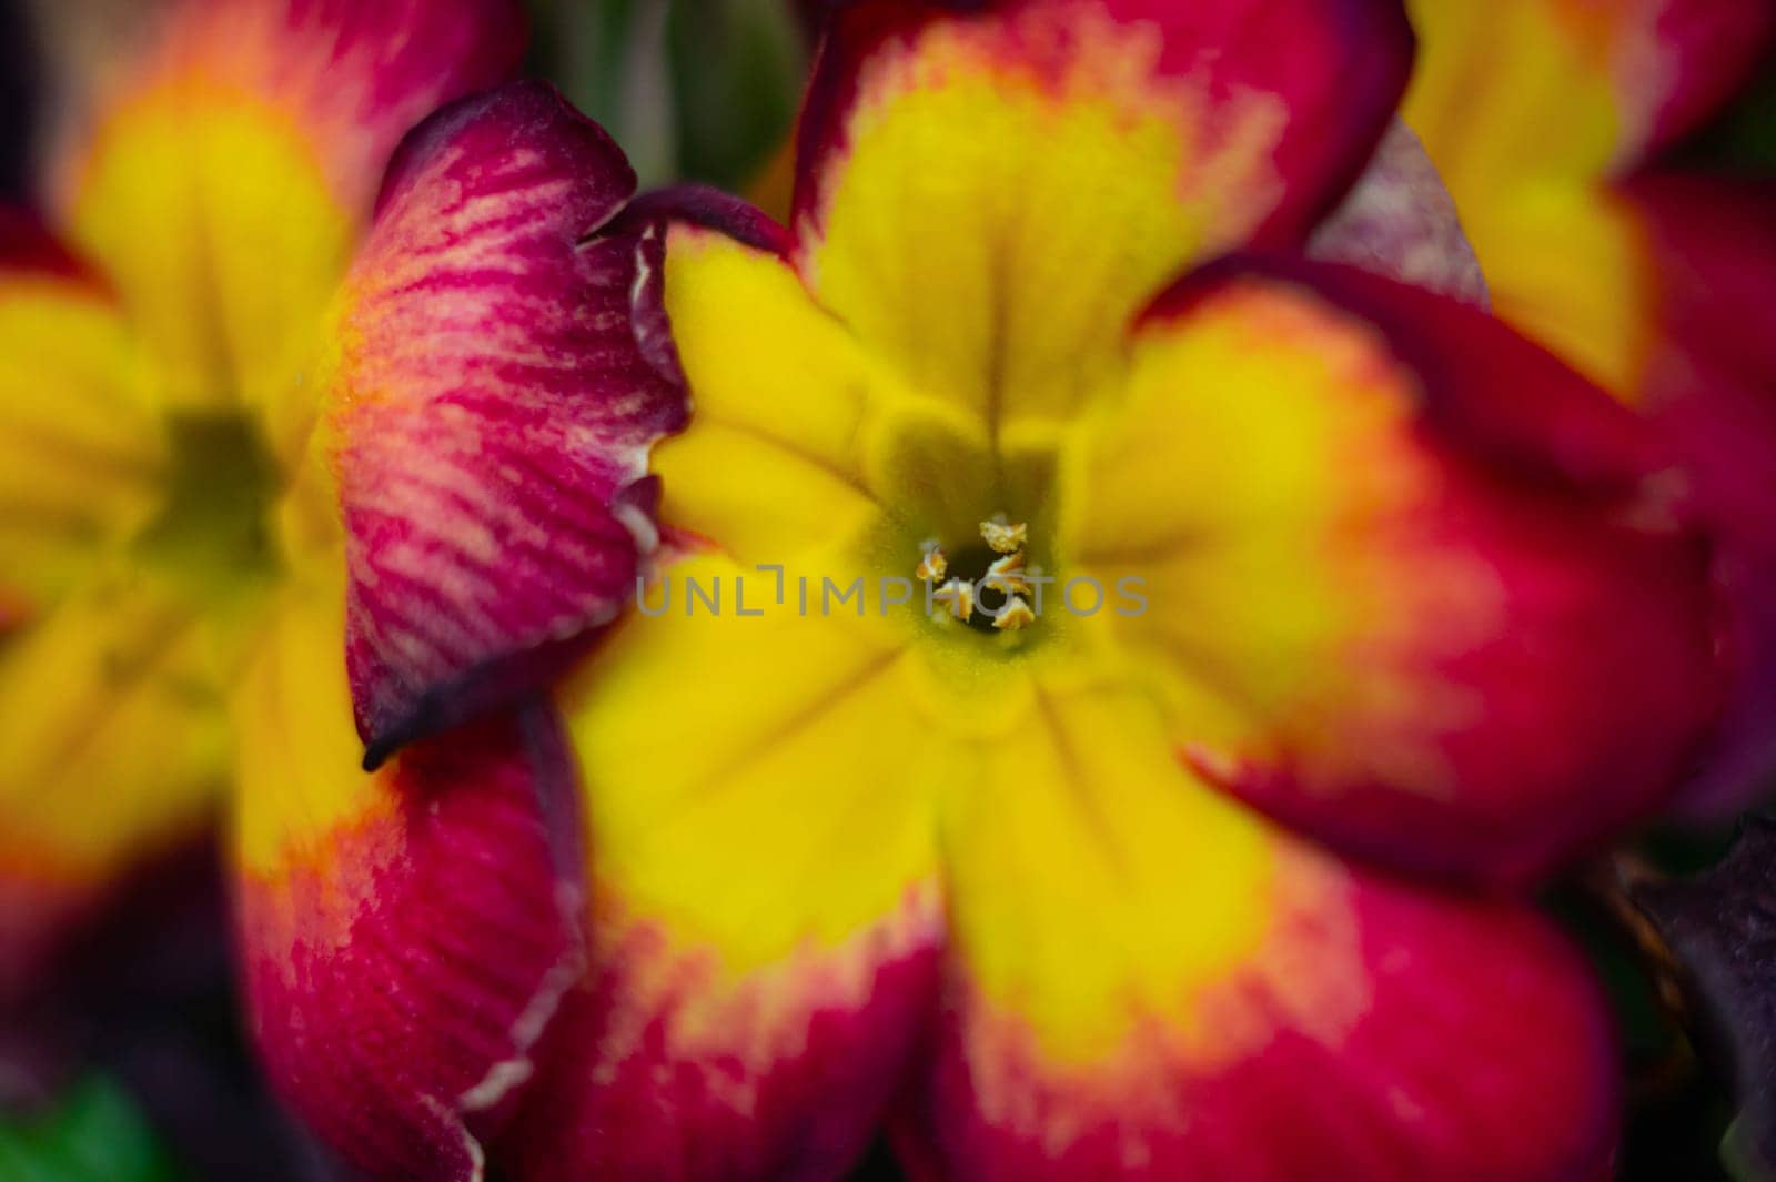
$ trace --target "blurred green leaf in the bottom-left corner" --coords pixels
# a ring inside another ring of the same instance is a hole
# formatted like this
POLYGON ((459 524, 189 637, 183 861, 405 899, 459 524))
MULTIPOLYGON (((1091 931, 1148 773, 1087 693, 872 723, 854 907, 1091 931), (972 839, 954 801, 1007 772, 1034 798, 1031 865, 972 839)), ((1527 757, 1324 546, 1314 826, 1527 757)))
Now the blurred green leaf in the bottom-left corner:
POLYGON ((181 1182, 135 1100, 89 1076, 34 1116, 0 1122, 0 1178, 7 1182, 181 1182))

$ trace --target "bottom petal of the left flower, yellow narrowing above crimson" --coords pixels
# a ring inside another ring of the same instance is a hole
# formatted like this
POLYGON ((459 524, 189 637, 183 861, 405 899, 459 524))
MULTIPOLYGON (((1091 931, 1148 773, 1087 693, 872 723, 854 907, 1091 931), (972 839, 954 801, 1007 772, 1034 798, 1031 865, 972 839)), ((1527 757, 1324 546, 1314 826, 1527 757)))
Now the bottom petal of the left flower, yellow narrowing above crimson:
POLYGON ((277 1090, 378 1178, 480 1178, 583 971, 572 770, 540 708, 359 768, 337 586, 293 586, 234 701, 249 1015, 277 1090))

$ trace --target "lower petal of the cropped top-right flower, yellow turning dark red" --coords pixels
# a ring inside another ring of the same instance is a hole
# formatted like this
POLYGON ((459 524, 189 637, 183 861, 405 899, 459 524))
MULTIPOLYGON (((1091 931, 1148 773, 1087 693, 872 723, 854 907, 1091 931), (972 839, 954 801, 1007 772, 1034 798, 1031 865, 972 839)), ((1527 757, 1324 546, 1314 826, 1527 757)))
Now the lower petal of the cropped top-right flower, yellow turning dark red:
POLYGON ((1526 186, 1467 217, 1499 312, 1650 415, 1717 538, 1737 692, 1684 808, 1733 813, 1776 768, 1776 193, 1643 176, 1526 186))

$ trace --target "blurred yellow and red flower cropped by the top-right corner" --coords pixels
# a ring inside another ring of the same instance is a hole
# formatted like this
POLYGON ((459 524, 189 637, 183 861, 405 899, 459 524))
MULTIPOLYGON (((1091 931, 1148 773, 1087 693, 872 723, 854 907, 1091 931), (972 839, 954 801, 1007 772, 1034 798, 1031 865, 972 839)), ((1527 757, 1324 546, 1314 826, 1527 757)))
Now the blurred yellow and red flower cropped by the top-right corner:
POLYGON ((1762 0, 1414 0, 1405 117, 1455 193, 1499 314, 1655 421, 1721 540, 1740 653, 1680 804, 1728 815, 1776 772, 1776 199, 1666 147, 1748 76, 1762 0), (1529 112, 1558 112, 1531 117, 1529 112))

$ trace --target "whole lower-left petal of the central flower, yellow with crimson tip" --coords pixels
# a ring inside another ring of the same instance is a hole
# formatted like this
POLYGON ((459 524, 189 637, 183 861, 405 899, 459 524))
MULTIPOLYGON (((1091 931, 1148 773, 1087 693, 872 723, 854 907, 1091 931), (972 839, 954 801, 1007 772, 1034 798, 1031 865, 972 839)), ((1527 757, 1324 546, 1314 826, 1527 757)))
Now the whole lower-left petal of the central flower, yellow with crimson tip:
POLYGON ((836 1178, 929 1017, 932 765, 906 669, 771 575, 735 591, 742 570, 668 566, 670 611, 625 618, 561 692, 593 976, 508 1141, 527 1182, 836 1178), (691 580, 748 618, 687 614, 691 580))

